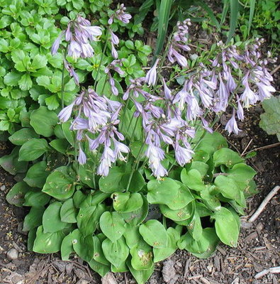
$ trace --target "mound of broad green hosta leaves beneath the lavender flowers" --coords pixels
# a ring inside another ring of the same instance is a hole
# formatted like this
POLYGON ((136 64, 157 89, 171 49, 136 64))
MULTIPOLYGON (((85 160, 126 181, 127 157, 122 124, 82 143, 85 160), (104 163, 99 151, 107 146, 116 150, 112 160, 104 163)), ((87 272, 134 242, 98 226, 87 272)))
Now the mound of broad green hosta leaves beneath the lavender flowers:
POLYGON ((160 180, 139 168, 127 188, 130 163, 105 178, 93 175, 93 158, 68 163, 75 143, 69 123, 57 125, 47 107, 32 111, 26 127, 9 138, 13 152, 0 159, 21 180, 7 200, 30 207, 23 222, 28 249, 60 251, 63 260, 77 254, 101 276, 130 271, 145 283, 155 263, 178 248, 207 258, 220 241, 236 246, 256 173, 219 133, 201 133, 191 163, 180 167, 167 158, 169 177, 160 180))

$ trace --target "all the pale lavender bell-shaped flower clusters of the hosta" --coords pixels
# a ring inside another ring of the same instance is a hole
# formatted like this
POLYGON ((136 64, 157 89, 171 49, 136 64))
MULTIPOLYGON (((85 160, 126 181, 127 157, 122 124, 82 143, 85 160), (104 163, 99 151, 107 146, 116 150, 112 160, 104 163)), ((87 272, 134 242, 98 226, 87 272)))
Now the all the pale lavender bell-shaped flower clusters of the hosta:
MULTIPOLYGON (((128 23, 131 16, 125 13, 123 4, 108 21, 109 26, 113 18, 118 18, 123 23, 128 23)), ((125 129, 121 129, 122 120, 125 120, 126 109, 135 109, 134 116, 142 121, 142 141, 145 143, 145 156, 152 174, 157 178, 168 175, 162 161, 166 158, 166 151, 174 152, 177 163, 184 166, 191 160, 194 151, 191 141, 196 135, 199 124, 206 131, 212 132, 207 114, 220 114, 228 107, 232 109, 232 117, 225 129, 229 133, 238 133, 237 119, 244 119, 244 108, 247 109, 257 102, 267 99, 271 92, 272 77, 267 70, 267 63, 274 59, 261 58, 260 46, 262 39, 245 45, 243 50, 237 46, 226 46, 218 43, 220 52, 212 58, 212 64, 205 66, 202 63, 189 75, 187 55, 191 48, 189 41, 189 26, 191 22, 186 19, 177 23, 177 31, 172 37, 168 47, 167 59, 171 65, 176 62, 183 68, 181 76, 185 77, 183 87, 174 85, 174 82, 165 82, 162 76, 162 64, 165 58, 155 61, 146 77, 130 80, 131 84, 121 97, 115 85, 111 72, 123 75, 122 60, 118 60, 116 45, 118 36, 109 27, 109 42, 113 61, 106 67, 108 83, 111 94, 96 94, 89 87, 82 90, 81 94, 60 111, 58 115, 62 122, 74 117, 71 130, 77 131, 79 148, 79 163, 86 163, 86 154, 83 148, 88 145, 93 153, 100 153, 97 174, 106 176, 111 166, 117 160, 125 160, 125 155, 130 152, 125 145, 125 129), (170 86, 174 86, 171 89, 170 86), (112 95, 118 96, 112 99, 112 95), (129 104, 128 104, 129 102, 129 104), (82 143, 88 141, 88 144, 82 143)), ((89 58, 94 50, 90 45, 91 40, 96 40, 101 35, 101 28, 90 26, 90 22, 82 16, 69 22, 67 29, 62 31, 52 46, 52 53, 56 53, 62 37, 68 43, 67 53, 74 59, 89 58)), ((78 83, 73 67, 65 61, 69 74, 74 76, 78 83)), ((131 124, 130 124, 131 126, 131 124)), ((144 144, 143 144, 144 145, 144 144)), ((141 149, 143 151, 143 149, 141 149)), ((141 155, 141 153, 139 153, 141 155)))

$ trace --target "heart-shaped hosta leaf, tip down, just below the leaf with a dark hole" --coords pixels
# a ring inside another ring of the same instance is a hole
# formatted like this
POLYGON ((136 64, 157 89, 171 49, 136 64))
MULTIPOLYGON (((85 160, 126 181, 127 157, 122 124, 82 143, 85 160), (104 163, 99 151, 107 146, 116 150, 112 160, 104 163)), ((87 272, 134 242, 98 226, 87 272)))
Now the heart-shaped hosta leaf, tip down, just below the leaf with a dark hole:
POLYGON ((104 212, 99 221, 103 234, 111 241, 117 241, 125 232, 125 221, 118 212, 104 212))

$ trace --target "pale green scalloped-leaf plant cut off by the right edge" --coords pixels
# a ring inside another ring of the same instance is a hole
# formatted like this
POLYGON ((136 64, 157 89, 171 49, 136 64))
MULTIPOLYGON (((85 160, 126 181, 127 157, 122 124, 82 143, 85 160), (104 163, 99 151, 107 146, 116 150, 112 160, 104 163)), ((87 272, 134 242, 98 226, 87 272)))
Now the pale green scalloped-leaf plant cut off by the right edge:
POLYGON ((269 135, 276 135, 280 141, 280 97, 271 97, 262 102, 264 114, 261 114, 259 126, 269 135))

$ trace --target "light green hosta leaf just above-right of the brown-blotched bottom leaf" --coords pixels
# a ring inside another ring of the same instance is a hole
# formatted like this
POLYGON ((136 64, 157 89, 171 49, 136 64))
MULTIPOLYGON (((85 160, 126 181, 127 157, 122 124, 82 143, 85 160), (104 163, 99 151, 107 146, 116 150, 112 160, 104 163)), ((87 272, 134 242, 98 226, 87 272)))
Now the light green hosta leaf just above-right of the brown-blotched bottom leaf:
POLYGON ((147 244, 154 248, 167 247, 167 231, 157 220, 149 220, 139 227, 139 232, 147 244))

